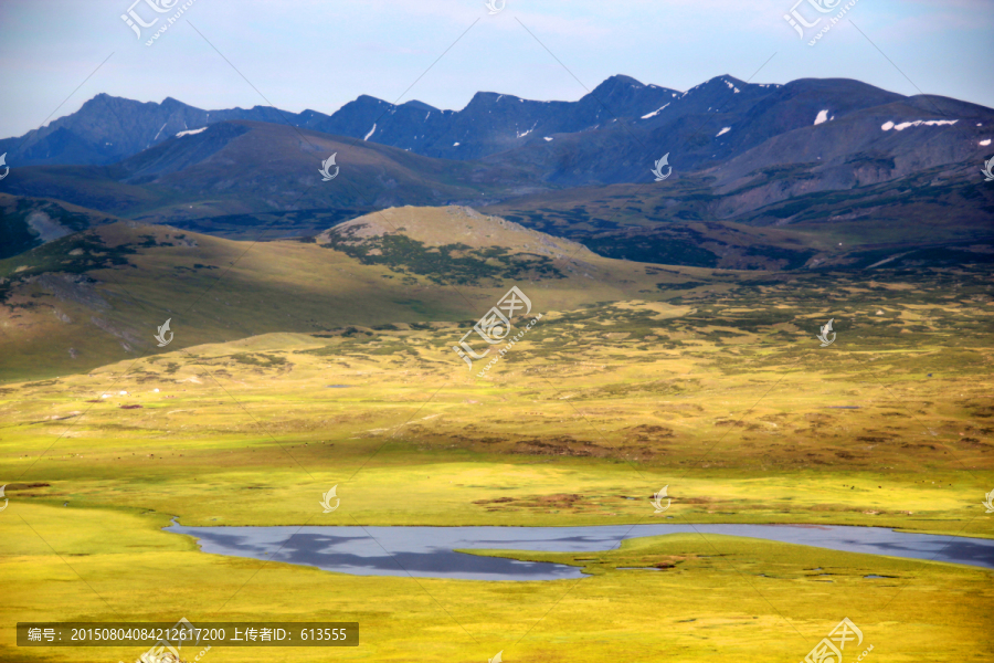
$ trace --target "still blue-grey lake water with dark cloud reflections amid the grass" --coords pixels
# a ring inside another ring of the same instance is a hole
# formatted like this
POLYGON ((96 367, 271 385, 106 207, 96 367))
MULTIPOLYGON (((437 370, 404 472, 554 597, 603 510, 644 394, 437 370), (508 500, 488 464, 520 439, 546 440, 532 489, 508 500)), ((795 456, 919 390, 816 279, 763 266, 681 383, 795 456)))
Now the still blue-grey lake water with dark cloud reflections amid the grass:
MULTIPOLYGON (((463 580, 563 580, 577 567, 456 552, 456 549, 596 552, 663 534, 723 534, 829 550, 994 568, 994 540, 822 525, 600 525, 592 527, 183 527, 204 552, 273 559, 355 576, 463 580)), ((717 544, 720 550, 720 544, 717 544)), ((701 541, 700 554, 715 548, 701 541)))

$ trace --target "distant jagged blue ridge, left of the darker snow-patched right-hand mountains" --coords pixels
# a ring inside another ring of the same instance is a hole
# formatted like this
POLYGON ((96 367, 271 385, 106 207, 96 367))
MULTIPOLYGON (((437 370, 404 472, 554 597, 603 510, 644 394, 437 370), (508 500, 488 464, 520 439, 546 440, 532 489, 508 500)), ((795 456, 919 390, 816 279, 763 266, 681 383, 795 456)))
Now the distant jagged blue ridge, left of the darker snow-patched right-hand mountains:
POLYGON ((269 106, 202 110, 171 97, 161 104, 99 94, 76 113, 18 138, 0 140, 19 165, 106 165, 230 120, 254 120, 362 138, 414 154, 455 160, 543 141, 553 134, 593 129, 636 117, 677 96, 676 91, 613 76, 578 102, 536 102, 477 93, 462 110, 412 101, 401 105, 362 95, 331 115, 269 106))

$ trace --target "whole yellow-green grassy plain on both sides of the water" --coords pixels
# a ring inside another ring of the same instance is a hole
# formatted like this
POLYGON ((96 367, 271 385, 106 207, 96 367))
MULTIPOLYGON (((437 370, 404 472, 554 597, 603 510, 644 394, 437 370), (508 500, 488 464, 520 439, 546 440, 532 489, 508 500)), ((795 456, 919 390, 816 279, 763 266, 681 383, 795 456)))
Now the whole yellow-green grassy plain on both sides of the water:
MULTIPOLYGON (((157 249, 124 257, 167 261, 157 249)), ((391 281, 385 265, 317 245, 272 250, 295 270, 324 255, 362 278, 380 270, 367 283, 391 281)), ((264 260, 274 253, 263 255, 234 287, 252 283, 252 269, 272 269, 264 260)), ((994 536, 981 505, 994 487, 986 269, 789 275, 605 264, 593 266, 613 281, 594 280, 582 296, 570 292, 577 276, 516 283, 543 317, 485 378, 451 346, 511 284, 433 288, 414 274, 409 296, 431 306, 417 320, 399 306, 327 324, 309 313, 318 297, 302 296, 286 319, 308 320, 313 333, 178 341, 3 385, 0 475, 15 480, 0 514, 9 588, 0 659, 140 653, 18 650, 17 621, 186 615, 362 629, 356 650, 205 659, 219 662, 468 662, 499 650, 509 663, 796 662, 843 617, 875 645, 870 661, 986 660, 994 586, 972 567, 673 535, 583 556, 499 552, 583 566, 579 581, 360 578, 208 556, 159 532, 176 516, 184 525, 810 523, 994 536), (443 302, 462 302, 447 322, 443 302), (822 348, 815 334, 829 318, 838 336, 822 348), (322 514, 332 485, 341 506, 322 514), (673 506, 654 514, 648 496, 663 485, 673 506)), ((287 269, 283 282, 294 276, 287 269)), ((277 291, 260 297, 278 301, 277 291)), ((380 293, 357 303, 362 294, 380 293)))

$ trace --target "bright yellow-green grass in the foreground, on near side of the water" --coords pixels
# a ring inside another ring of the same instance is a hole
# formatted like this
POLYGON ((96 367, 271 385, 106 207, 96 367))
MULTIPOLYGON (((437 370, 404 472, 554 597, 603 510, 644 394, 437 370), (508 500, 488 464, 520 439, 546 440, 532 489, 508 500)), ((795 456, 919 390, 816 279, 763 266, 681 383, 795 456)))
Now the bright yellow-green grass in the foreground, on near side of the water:
MULTIPOLYGON (((606 554, 516 555, 583 566, 590 577, 580 580, 414 580, 202 555, 187 537, 159 532, 167 518, 156 514, 34 504, 18 513, 3 526, 0 573, 15 588, 4 611, 19 620, 360 622, 357 649, 215 648, 204 661, 408 661, 414 651, 423 661, 473 662, 503 650, 509 662, 796 662, 843 615, 879 660, 985 661, 990 645, 990 573, 953 565, 672 535, 606 554), (662 570, 617 568, 632 566, 662 570)), ((140 653, 15 651, 12 631, 4 624, 0 650, 10 663, 140 653)))

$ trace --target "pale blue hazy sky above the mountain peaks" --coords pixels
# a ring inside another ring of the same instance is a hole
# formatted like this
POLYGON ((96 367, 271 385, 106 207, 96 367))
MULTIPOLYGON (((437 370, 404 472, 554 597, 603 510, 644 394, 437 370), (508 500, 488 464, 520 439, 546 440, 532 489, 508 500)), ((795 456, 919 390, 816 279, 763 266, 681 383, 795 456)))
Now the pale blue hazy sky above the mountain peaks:
POLYGON ((205 109, 330 114, 360 94, 459 109, 479 91, 574 101, 614 74, 680 91, 723 74, 857 78, 994 107, 992 0, 491 1, 503 9, 491 14, 485 0, 0 0, 0 137, 99 93, 205 109), (158 22, 139 36, 121 19, 129 10, 158 22), (802 38, 784 18, 792 11, 819 21, 802 38))

